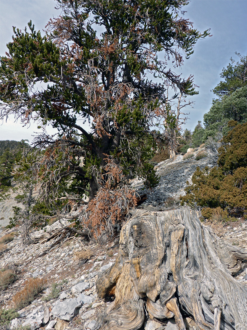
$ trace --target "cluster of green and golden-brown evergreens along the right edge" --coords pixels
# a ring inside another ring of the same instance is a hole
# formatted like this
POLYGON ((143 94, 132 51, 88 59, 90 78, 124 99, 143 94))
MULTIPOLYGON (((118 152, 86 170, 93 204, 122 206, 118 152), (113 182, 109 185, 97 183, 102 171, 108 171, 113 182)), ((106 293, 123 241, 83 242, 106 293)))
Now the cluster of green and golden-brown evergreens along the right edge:
POLYGON ((181 197, 182 203, 201 206, 204 218, 217 221, 247 218, 247 56, 237 55, 240 61, 231 59, 221 73, 224 81, 213 89, 218 98, 204 115, 205 128, 198 122, 190 134, 191 146, 206 142, 214 149, 217 166, 197 168, 181 197))

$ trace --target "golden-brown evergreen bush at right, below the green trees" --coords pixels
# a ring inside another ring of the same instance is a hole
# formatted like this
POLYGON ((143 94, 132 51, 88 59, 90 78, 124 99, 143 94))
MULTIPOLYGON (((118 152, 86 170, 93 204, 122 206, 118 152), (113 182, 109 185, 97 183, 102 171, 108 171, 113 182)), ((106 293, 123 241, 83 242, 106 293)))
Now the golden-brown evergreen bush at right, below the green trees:
POLYGON ((211 209, 215 208, 225 210, 228 215, 247 212, 247 123, 232 121, 230 124, 232 129, 218 149, 218 166, 202 170, 198 167, 192 184, 185 188, 186 195, 181 196, 182 203, 194 205, 197 202, 206 208, 206 216, 208 211, 212 215, 211 209))

